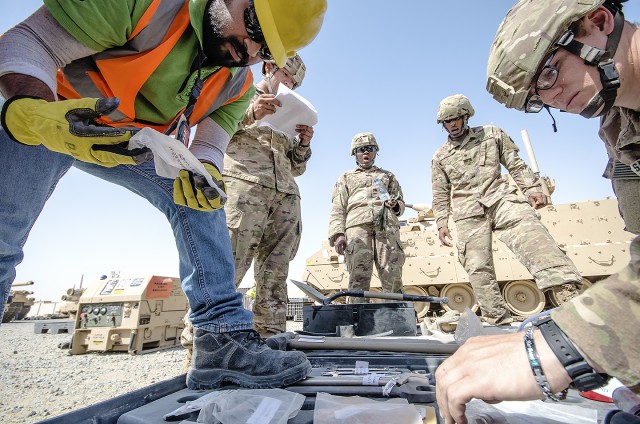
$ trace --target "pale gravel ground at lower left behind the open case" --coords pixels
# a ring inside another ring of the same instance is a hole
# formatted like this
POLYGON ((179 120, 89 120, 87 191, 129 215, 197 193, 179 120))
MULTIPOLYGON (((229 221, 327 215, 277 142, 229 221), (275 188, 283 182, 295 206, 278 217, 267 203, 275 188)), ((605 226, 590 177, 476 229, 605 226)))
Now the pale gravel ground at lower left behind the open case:
MULTIPOLYGON (((37 423, 183 373, 182 347, 131 356, 69 355, 69 334, 35 334, 33 321, 0 325, 0 423, 37 423)), ((297 324, 289 321, 290 331, 297 324)), ((300 325, 301 327, 301 325, 300 325)))

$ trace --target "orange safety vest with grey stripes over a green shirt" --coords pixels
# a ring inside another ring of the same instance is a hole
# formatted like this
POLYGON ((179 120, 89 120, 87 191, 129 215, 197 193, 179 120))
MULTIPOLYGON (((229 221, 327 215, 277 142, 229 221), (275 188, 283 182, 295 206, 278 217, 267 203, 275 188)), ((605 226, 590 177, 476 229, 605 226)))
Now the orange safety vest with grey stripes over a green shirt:
MULTIPOLYGON (((118 97, 120 107, 104 117, 104 123, 148 126, 164 132, 175 118, 166 123, 136 122, 135 101, 151 74, 189 27, 189 0, 153 0, 129 36, 126 48, 109 49, 76 60, 58 71, 58 95, 66 99, 118 97)), ((206 78, 190 122, 194 125, 221 106, 239 99, 252 83, 248 67, 239 68, 235 76, 228 68, 220 68, 206 78)))

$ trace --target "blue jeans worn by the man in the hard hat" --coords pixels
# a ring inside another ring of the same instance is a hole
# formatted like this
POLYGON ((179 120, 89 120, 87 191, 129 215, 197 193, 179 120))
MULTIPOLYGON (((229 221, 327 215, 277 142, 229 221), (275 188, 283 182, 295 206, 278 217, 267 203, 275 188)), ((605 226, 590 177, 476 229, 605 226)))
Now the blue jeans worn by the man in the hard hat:
MULTIPOLYGON (((253 328, 253 315, 235 290, 234 263, 224 210, 200 212, 173 202, 173 180, 153 162, 105 168, 75 161, 42 146, 24 146, 0 129, 0 300, 7 301, 22 248, 56 184, 75 166, 147 199, 169 220, 178 248, 182 289, 197 328, 223 333, 253 328)), ((0 308, 0 316, 4 307, 0 308)))

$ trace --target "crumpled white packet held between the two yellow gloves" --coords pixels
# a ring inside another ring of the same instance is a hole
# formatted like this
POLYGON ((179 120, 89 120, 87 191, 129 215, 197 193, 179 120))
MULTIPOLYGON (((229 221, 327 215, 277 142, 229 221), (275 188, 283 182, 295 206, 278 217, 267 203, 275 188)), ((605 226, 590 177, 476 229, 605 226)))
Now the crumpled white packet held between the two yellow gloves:
POLYGON ((227 195, 214 183, 211 174, 207 172, 202 162, 189 149, 175 138, 162 134, 153 128, 143 128, 129 140, 129 149, 148 147, 153 152, 156 173, 165 178, 177 178, 180 170, 186 169, 194 174, 202 175, 218 194, 225 198, 227 195))

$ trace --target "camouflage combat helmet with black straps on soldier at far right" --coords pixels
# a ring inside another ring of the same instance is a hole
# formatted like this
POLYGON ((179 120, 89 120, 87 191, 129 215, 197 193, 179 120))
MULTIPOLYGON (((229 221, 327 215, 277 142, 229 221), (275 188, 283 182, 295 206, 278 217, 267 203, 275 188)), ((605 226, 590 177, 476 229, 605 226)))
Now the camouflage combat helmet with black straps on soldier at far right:
POLYGON ((549 54, 563 48, 597 66, 603 87, 601 100, 581 113, 592 117, 604 103, 603 112, 615 100, 619 76, 612 57, 616 51, 624 17, 621 2, 626 0, 520 0, 511 8, 498 28, 489 53, 487 91, 508 108, 539 112, 544 104, 531 90, 534 76, 549 54), (582 44, 569 29, 600 6, 615 16, 615 29, 605 50, 582 44), (617 85, 616 85, 617 84, 617 85), (608 106, 608 107, 607 107, 608 106))

